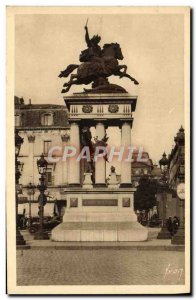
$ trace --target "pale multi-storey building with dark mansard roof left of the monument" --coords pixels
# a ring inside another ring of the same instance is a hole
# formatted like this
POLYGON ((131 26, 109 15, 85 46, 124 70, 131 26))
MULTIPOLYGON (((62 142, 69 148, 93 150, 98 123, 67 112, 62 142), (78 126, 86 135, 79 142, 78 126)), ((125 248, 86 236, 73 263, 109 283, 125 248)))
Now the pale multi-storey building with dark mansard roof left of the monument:
MULTIPOLYGON (((23 163, 23 171, 20 178, 22 194, 19 194, 19 213, 29 215, 29 203, 31 203, 31 215, 38 215, 39 191, 29 189, 29 184, 39 184, 37 160, 43 153, 45 158, 53 146, 64 147, 69 139, 69 126, 67 123, 67 110, 65 106, 53 104, 28 104, 23 98, 15 97, 15 128, 19 130, 24 139, 21 146, 19 160, 23 163)), ((63 214, 66 207, 66 199, 63 195, 67 185, 66 162, 61 159, 57 162, 49 162, 47 175, 47 204, 45 215, 53 215, 54 209, 63 214), (54 203, 56 205, 54 206, 54 203)))

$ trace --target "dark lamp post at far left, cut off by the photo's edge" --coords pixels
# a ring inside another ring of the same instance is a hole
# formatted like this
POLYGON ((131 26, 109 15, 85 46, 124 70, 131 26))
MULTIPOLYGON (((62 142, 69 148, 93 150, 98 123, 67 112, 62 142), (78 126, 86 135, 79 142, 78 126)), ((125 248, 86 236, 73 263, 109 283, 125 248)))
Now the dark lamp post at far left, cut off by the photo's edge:
POLYGON ((18 194, 22 192, 22 186, 19 180, 23 170, 23 163, 18 160, 23 138, 19 136, 18 130, 15 130, 15 193, 16 193, 16 246, 26 245, 26 242, 19 231, 18 226, 18 194))

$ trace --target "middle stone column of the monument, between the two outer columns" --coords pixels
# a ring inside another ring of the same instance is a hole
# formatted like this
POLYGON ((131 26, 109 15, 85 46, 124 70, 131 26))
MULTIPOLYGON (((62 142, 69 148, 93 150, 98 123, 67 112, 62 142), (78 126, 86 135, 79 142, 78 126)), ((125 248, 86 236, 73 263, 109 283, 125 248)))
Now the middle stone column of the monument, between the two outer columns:
MULTIPOLYGON (((96 137, 100 141, 104 136, 105 126, 103 123, 99 122, 96 124, 96 137)), ((97 160, 95 161, 95 184, 106 185, 106 161, 104 157, 97 157, 97 160)))

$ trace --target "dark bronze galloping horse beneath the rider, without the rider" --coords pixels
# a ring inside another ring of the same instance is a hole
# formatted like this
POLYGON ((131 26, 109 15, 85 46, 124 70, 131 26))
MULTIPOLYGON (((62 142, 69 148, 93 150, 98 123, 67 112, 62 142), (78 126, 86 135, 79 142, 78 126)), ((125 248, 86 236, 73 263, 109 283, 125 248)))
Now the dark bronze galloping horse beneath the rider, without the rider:
POLYGON ((105 44, 102 50, 101 57, 93 57, 91 61, 84 62, 80 65, 71 64, 64 71, 61 71, 59 77, 68 77, 75 69, 77 74, 71 74, 69 82, 63 86, 66 89, 62 93, 70 90, 73 84, 89 84, 93 82, 92 87, 109 85, 107 78, 111 75, 127 77, 134 84, 139 84, 138 81, 126 73, 127 66, 119 65, 118 60, 122 60, 123 55, 118 43, 105 44), (121 71, 123 69, 123 71, 121 71))

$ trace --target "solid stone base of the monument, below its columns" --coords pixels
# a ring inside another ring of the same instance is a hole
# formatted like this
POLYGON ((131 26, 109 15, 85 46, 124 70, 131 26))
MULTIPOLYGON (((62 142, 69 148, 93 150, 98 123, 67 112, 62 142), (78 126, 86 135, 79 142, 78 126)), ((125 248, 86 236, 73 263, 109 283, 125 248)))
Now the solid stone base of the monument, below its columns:
POLYGON ((148 230, 137 222, 133 210, 134 191, 133 188, 65 191, 68 207, 63 223, 52 230, 51 239, 67 242, 147 240, 148 230))

